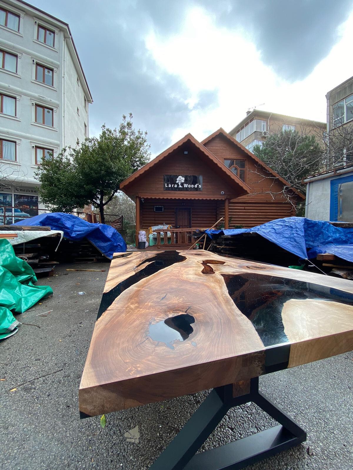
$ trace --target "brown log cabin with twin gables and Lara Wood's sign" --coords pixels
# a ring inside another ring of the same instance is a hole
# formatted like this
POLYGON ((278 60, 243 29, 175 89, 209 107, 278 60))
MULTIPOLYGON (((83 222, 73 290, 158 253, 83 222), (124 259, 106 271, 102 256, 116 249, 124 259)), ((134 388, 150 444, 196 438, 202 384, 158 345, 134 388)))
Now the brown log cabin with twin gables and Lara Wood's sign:
POLYGON ((295 215, 299 191, 220 128, 199 142, 190 133, 120 184, 136 202, 136 233, 173 228, 254 227, 295 215), (293 204, 294 205, 293 205, 293 204))

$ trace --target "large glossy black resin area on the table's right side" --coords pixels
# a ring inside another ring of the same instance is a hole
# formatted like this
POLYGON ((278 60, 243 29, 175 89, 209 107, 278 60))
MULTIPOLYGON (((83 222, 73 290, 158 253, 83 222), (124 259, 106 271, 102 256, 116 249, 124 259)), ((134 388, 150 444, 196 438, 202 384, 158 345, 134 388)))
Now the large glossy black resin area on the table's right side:
POLYGON ((317 299, 353 305, 353 294, 312 282, 255 273, 222 276, 235 305, 252 322, 265 346, 288 342, 282 308, 290 299, 317 299))

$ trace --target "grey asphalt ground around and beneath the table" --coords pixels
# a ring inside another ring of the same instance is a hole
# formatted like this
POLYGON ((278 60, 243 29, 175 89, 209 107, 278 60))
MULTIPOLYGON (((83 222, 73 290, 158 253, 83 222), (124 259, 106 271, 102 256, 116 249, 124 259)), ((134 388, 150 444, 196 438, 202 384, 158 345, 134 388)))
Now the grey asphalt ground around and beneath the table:
MULTIPOLYGON (((104 429, 99 416, 80 420, 80 377, 108 269, 109 263, 57 266, 55 276, 39 280, 54 296, 17 315, 31 325, 0 342, 0 468, 147 469, 207 396, 111 413, 104 429), (66 271, 78 267, 105 272, 66 271), (139 442, 128 442, 125 433, 136 426, 139 442)), ((247 468, 353 469, 352 377, 352 352, 261 377, 260 389, 308 437, 247 468)), ((274 424, 255 405, 243 405, 225 416, 201 450, 274 424)))

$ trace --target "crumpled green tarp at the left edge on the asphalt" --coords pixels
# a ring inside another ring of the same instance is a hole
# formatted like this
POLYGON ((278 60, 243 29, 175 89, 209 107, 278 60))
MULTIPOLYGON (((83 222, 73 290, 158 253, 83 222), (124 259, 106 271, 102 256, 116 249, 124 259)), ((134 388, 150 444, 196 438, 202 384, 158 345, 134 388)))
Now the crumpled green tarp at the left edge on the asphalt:
POLYGON ((41 298, 53 294, 49 286, 35 286, 31 266, 17 258, 11 244, 0 239, 0 339, 17 331, 19 324, 13 313, 24 313, 41 298))

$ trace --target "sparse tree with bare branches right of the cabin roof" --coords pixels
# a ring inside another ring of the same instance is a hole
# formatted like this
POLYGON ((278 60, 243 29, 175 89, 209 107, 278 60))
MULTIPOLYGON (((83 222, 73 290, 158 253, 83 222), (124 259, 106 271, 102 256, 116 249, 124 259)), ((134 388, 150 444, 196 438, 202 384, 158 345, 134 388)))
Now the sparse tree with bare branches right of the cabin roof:
POLYGON ((256 145, 253 152, 289 182, 283 189, 287 193, 291 188, 305 193, 304 178, 321 171, 325 162, 323 143, 305 130, 270 133, 263 145, 256 145))

